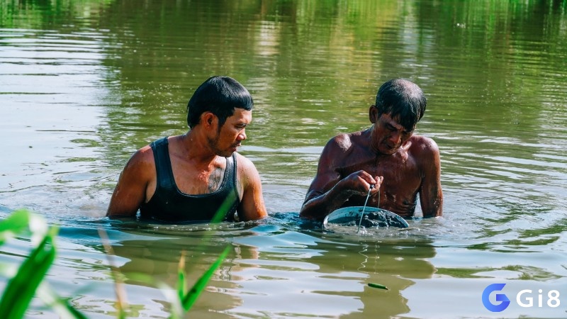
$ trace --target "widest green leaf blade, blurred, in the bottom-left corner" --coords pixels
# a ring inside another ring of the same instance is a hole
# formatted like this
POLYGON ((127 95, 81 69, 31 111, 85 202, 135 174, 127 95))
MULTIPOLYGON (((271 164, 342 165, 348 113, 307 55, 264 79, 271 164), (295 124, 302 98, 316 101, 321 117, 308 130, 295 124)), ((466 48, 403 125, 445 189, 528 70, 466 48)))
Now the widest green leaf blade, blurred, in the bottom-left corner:
POLYGON ((55 260, 52 233, 45 235, 40 245, 21 264, 18 274, 8 282, 0 301, 2 318, 23 318, 47 270, 55 260))

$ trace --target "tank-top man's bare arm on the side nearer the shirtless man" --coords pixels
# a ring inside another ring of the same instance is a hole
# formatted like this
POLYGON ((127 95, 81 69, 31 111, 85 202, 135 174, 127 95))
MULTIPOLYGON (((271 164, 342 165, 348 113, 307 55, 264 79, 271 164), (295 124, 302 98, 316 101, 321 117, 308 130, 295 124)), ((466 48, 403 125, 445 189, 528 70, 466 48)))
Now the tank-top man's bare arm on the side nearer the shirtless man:
POLYGON ((258 170, 249 159, 237 155, 238 170, 242 184, 242 200, 237 208, 238 217, 241 220, 258 220, 266 218, 266 206, 262 195, 262 181, 258 170))

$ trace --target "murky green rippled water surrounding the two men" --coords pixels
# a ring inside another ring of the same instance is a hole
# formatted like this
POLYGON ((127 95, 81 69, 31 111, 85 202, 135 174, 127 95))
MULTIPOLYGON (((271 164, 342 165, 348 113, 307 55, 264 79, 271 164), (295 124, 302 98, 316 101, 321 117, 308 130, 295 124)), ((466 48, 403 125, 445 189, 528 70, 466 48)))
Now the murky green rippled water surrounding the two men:
MULTIPOLYGON (((192 318, 566 318, 566 39, 564 0, 0 0, 0 214, 27 207, 61 225, 47 280, 89 318, 116 318, 97 228, 128 277, 130 318, 167 317, 169 303, 129 274, 173 286, 185 251, 193 282, 225 245, 192 318), (103 218, 128 157, 184 133, 189 97, 215 74, 254 96, 240 152, 261 174, 270 218, 191 228, 103 218), (323 145, 366 128, 393 77, 427 95, 417 133, 442 152, 444 217, 366 235, 302 223, 323 145), (501 313, 481 301, 493 283, 512 301, 501 313), (533 307, 517 303, 522 289, 533 307)), ((0 262, 28 250, 13 241, 0 262)), ((28 313, 53 316, 40 301, 28 313)))

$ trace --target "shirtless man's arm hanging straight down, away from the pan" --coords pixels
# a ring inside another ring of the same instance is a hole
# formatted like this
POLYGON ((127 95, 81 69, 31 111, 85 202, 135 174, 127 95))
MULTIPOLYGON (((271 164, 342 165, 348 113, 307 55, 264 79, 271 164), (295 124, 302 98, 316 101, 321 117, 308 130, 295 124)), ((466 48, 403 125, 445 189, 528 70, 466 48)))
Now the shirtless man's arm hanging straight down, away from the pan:
POLYGON ((422 167, 420 186, 420 204, 423 217, 443 215, 443 191, 441 188, 441 160, 437 143, 430 138, 420 142, 419 162, 422 167))

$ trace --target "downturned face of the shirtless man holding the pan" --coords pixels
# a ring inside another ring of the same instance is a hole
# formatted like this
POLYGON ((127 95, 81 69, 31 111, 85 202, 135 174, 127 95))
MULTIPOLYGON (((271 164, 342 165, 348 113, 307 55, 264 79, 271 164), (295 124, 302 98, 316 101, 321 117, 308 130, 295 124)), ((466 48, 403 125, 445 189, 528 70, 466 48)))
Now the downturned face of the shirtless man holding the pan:
POLYGON ((413 135, 413 130, 406 130, 390 114, 382 114, 374 127, 374 138, 378 152, 392 155, 413 135))

